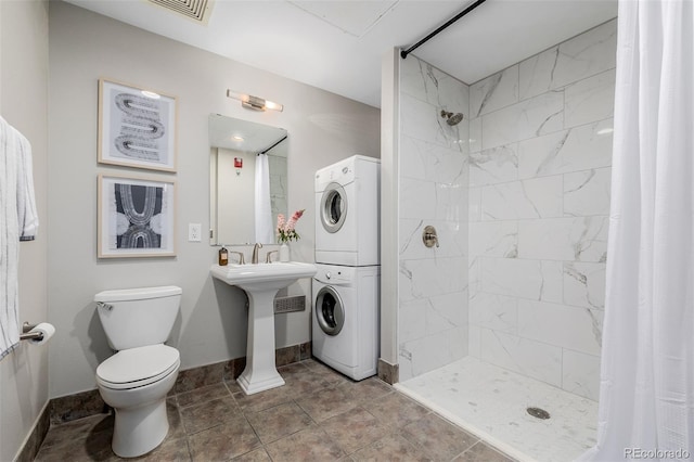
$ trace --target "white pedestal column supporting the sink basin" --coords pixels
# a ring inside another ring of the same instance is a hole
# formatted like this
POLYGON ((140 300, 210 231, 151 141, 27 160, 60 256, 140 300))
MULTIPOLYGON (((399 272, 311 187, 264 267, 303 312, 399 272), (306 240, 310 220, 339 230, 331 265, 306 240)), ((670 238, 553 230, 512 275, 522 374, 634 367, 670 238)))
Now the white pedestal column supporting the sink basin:
POLYGON ((236 383, 246 395, 284 385, 274 362, 274 295, 278 290, 248 291, 246 369, 236 383))

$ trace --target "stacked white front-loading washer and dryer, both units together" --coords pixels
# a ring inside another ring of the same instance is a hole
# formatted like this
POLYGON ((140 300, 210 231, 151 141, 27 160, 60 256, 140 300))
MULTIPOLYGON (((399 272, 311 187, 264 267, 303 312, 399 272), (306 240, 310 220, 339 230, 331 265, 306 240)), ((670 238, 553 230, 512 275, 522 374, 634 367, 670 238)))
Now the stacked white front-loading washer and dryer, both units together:
POLYGON ((356 381, 378 361, 380 174, 361 155, 316 172, 312 350, 356 381))

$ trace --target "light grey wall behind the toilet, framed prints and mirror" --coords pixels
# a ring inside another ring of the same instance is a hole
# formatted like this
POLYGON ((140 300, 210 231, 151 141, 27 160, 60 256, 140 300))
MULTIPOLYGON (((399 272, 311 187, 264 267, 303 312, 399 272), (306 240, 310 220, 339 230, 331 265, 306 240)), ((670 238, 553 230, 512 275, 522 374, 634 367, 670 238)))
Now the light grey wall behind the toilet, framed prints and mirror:
MULTIPOLYGON (((213 282, 217 248, 188 243, 189 222, 209 224, 207 117, 219 113, 288 130, 290 211, 306 208, 292 256, 313 261, 313 172, 352 154, 378 156, 378 110, 81 10, 50 8, 49 313, 59 333, 51 351, 51 396, 95 388, 110 354, 92 304, 102 290, 177 284, 181 313, 171 344, 182 369, 245 355, 245 295, 213 282), (143 174, 97 163, 99 77, 178 97, 178 256, 97 259, 97 175, 143 174), (228 99, 228 88, 284 104, 258 113, 228 99)), ((247 255, 249 259, 249 254, 247 255)), ((308 280, 290 287, 310 294, 308 280)), ((277 346, 310 339, 310 312, 275 318, 277 346)))

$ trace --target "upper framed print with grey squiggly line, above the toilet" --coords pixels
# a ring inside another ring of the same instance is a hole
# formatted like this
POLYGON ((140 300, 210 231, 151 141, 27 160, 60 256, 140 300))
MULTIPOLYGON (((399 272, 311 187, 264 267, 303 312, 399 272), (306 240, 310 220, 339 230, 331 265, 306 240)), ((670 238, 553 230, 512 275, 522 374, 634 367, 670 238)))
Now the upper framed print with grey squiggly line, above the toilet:
POLYGON ((99 79, 99 162, 176 171, 176 98, 99 79))

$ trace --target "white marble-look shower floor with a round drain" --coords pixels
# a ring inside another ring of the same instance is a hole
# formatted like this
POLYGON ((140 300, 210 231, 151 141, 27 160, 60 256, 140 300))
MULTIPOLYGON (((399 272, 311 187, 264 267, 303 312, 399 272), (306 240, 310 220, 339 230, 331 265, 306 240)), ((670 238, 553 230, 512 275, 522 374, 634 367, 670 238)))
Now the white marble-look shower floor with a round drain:
POLYGON ((595 444, 597 403, 476 358, 396 388, 520 461, 573 461, 595 444), (549 420, 530 416, 537 407, 549 420))

